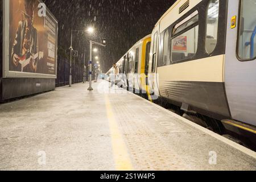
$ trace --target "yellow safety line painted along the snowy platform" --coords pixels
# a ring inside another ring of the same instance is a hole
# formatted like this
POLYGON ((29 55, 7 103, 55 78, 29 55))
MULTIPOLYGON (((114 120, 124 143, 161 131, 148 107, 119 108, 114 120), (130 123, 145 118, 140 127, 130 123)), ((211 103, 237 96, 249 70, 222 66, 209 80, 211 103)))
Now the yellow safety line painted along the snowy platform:
POLYGON ((105 95, 106 102, 106 113, 109 119, 110 134, 112 137, 112 147, 113 156, 115 160, 115 168, 118 171, 132 171, 133 166, 129 154, 127 152, 127 147, 123 141, 122 134, 118 129, 117 121, 115 120, 112 105, 110 104, 108 96, 105 95))

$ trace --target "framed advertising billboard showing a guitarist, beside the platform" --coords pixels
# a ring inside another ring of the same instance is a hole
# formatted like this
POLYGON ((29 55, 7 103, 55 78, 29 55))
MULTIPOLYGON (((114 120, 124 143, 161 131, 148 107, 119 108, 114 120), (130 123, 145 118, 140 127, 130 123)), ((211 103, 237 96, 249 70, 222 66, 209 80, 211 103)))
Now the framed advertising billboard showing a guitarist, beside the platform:
POLYGON ((4 77, 56 78, 57 20, 39 0, 4 0, 4 77))

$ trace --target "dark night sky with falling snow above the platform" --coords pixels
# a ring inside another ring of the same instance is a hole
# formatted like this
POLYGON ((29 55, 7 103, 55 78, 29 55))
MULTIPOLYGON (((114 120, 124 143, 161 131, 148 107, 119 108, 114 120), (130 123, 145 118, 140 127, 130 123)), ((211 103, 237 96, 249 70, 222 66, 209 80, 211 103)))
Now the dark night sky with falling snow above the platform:
MULTIPOLYGON (((101 42, 107 39, 107 47, 97 53, 103 72, 116 63, 139 39, 151 34, 155 23, 171 7, 175 0, 45 0, 59 21, 59 54, 69 57, 71 29, 85 30, 94 26, 93 36, 75 32, 73 48, 80 57, 86 50, 89 61, 89 39, 101 42)), ((82 59, 80 59, 82 61, 82 59)), ((78 64, 82 64, 81 62, 78 64)))

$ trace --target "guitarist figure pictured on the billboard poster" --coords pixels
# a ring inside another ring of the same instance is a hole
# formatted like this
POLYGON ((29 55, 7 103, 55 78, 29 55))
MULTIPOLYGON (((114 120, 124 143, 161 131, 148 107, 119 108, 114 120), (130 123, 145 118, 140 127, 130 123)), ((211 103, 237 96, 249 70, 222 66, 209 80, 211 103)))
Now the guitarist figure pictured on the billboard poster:
POLYGON ((38 31, 33 26, 35 1, 25 0, 22 12, 25 19, 19 22, 18 30, 11 51, 11 60, 15 71, 37 72, 38 63, 38 31))

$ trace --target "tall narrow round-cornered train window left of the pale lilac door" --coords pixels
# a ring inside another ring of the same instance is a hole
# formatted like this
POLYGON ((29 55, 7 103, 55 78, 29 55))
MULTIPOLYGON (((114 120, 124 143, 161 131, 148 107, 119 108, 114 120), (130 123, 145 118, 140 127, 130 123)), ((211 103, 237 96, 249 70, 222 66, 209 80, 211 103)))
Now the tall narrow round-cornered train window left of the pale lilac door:
POLYGON ((210 0, 207 11, 207 34, 205 49, 212 53, 217 46, 219 0, 210 0))

